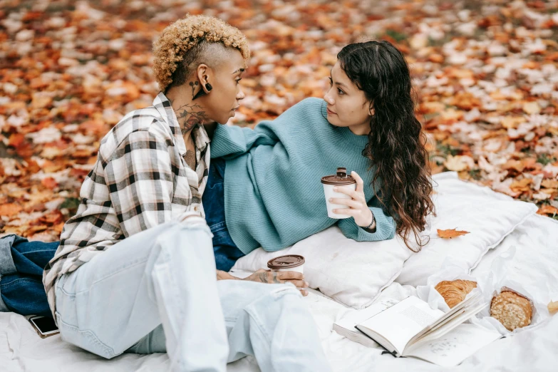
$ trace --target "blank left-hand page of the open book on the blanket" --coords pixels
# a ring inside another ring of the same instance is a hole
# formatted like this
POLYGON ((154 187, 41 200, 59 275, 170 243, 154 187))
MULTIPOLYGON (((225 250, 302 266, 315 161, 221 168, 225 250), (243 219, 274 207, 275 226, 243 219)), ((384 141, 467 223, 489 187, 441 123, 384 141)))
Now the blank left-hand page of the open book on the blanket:
POLYGON ((395 351, 401 354, 415 334, 443 314, 444 312, 438 309, 430 309, 425 301, 410 296, 371 319, 363 321, 359 326, 383 336, 392 343, 395 351))

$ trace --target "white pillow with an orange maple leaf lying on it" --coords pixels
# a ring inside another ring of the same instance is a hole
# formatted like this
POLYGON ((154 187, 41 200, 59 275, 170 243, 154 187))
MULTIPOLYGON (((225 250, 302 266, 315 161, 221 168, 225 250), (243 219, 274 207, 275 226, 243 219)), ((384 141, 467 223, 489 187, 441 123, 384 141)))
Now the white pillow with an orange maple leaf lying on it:
POLYGON ((432 219, 430 242, 405 262, 396 279, 399 284, 426 285, 428 277, 442 269, 446 257, 459 262, 469 274, 489 249, 537 212, 532 203, 461 181, 456 172, 434 175, 433 180, 437 216, 432 219), (437 229, 465 230, 470 234, 441 239, 437 229))

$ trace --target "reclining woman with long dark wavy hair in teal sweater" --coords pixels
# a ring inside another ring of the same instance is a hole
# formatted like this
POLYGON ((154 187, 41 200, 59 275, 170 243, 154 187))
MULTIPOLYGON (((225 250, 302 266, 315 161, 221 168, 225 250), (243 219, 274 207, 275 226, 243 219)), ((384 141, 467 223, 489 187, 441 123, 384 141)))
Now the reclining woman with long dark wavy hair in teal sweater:
POLYGON ((419 233, 433 212, 432 185, 405 58, 388 41, 352 43, 337 57, 324 100, 302 100, 254 130, 215 128, 203 204, 218 269, 335 223, 358 241, 397 232, 413 251, 425 244, 419 233), (350 199, 331 200, 351 217, 339 222, 327 216, 320 184, 336 167, 352 170, 357 183, 339 188, 350 199))

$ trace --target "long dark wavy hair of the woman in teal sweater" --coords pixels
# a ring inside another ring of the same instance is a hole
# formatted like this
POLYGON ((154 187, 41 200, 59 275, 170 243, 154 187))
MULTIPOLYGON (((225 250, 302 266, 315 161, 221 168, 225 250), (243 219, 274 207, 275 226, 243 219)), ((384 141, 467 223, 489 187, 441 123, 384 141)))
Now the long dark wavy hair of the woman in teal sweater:
MULTIPOLYGON (((346 46, 337 56, 339 67, 363 91, 373 107, 368 143, 363 155, 381 180, 380 197, 396 220, 397 233, 408 239, 413 233, 420 250, 425 242, 426 216, 433 212, 428 151, 422 125, 415 117, 410 73, 405 58, 388 41, 369 41, 346 46)), ((412 248, 410 248, 412 249, 412 248)))

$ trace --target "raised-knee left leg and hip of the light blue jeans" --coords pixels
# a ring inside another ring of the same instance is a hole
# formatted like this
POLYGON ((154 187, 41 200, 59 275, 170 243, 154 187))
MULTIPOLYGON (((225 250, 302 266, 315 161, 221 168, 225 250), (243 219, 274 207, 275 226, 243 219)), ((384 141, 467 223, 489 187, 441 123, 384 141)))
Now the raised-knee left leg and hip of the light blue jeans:
POLYGON ((226 371, 229 347, 205 219, 123 239, 56 281, 62 339, 104 358, 162 324, 170 371, 226 371))

